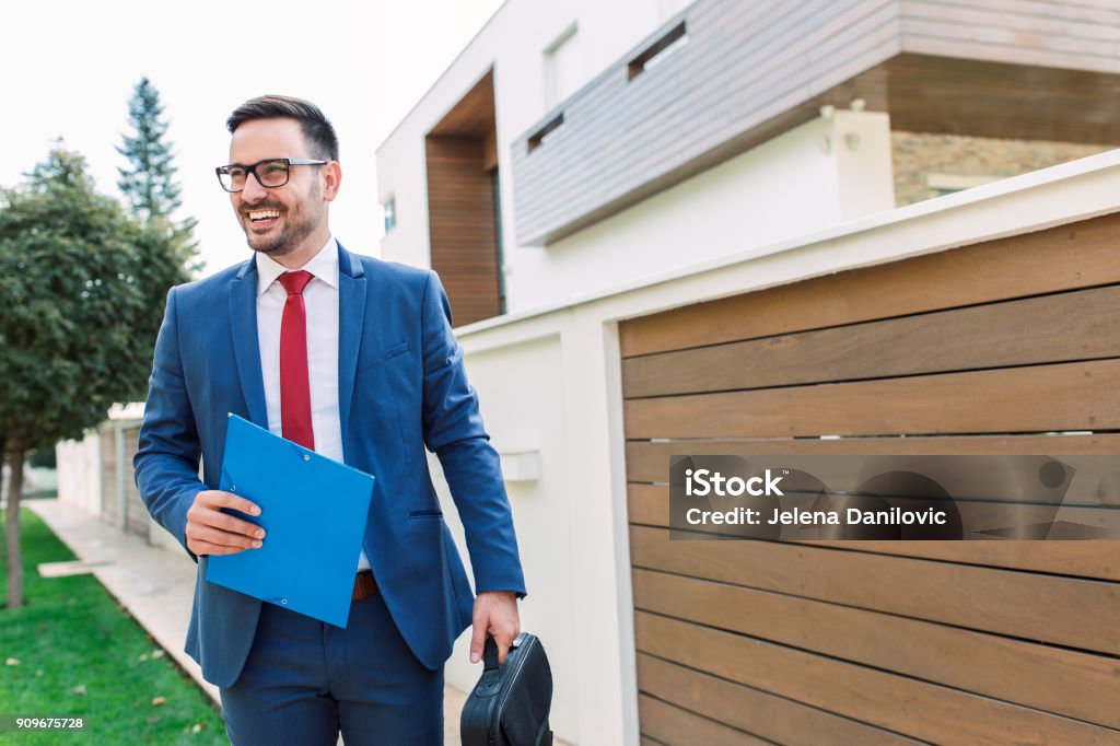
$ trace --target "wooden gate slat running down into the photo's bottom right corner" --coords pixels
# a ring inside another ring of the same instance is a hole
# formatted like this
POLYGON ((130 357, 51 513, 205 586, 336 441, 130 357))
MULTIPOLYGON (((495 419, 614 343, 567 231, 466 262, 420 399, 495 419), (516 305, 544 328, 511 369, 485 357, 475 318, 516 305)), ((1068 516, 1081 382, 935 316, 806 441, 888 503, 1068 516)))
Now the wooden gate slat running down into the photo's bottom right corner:
POLYGON ((939 744, 1120 744, 1120 731, 636 612, 638 650, 939 744))

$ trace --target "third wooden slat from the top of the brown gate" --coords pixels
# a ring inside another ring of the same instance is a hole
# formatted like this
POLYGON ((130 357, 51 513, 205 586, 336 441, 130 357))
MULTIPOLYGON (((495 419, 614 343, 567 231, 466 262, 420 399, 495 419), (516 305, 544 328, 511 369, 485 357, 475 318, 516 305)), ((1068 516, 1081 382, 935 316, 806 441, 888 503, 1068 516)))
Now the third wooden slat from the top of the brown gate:
POLYGON ((632 399, 626 437, 1108 430, 1120 428, 1117 391, 1120 361, 1103 361, 632 399))

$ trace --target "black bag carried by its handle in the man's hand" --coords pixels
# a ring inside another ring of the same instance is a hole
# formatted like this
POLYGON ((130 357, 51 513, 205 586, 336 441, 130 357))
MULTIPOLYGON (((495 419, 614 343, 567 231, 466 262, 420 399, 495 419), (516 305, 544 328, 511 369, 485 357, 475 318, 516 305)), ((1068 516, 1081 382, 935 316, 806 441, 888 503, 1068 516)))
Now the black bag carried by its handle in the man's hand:
POLYGON ((483 675, 459 718, 463 746, 551 746, 552 671, 541 641, 522 632, 497 664, 497 643, 486 637, 483 675))

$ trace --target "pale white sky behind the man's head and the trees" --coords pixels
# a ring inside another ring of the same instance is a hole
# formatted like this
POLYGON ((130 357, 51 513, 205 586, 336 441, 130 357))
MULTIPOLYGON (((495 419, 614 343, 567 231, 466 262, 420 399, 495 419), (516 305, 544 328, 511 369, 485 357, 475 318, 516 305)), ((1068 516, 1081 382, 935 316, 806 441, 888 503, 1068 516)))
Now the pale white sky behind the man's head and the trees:
POLYGON ((318 0, 193 3, 37 0, 0 9, 0 186, 12 187, 54 141, 85 156, 96 187, 119 196, 115 147, 141 77, 170 127, 180 217, 198 220, 204 274, 246 259, 214 167, 227 162, 225 119, 282 93, 318 104, 340 142, 335 235, 376 255, 382 235, 374 151, 502 0, 318 0))

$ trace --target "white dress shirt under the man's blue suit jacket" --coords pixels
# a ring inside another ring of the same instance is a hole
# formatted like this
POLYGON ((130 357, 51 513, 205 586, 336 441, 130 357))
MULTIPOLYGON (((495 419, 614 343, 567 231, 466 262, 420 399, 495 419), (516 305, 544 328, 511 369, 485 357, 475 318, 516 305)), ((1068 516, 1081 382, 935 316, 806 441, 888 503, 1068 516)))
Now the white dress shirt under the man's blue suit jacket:
MULTIPOLYGON (((342 420, 338 417, 338 244, 334 236, 299 269, 314 278, 304 288, 307 308, 307 371, 311 385, 311 430, 315 450, 336 461, 343 460, 342 420)), ((256 339, 261 348, 264 404, 269 430, 283 435, 280 420, 280 323, 288 291, 277 282, 288 268, 256 253, 256 339)), ((308 500, 330 500, 330 495, 308 495, 308 500)), ((370 569, 362 550, 357 569, 370 569)))

